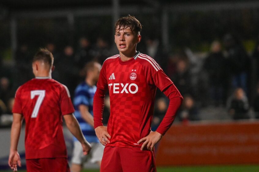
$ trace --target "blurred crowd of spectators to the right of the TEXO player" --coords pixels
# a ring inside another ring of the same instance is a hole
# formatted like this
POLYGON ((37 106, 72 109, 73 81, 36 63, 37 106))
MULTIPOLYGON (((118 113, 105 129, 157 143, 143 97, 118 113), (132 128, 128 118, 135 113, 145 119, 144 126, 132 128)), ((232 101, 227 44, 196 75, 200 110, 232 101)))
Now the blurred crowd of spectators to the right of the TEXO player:
MULTIPOLYGON (((248 53, 237 37, 226 34, 221 40, 212 41, 210 51, 203 53, 205 56, 193 53, 190 48, 157 55, 161 51, 158 50, 157 40, 148 40, 146 46, 151 47, 151 50, 147 50, 163 65, 163 69, 183 95, 184 101, 177 119, 187 122, 202 120, 199 116, 202 108, 221 107, 233 120, 259 117, 258 42, 254 51, 248 53)), ((158 101, 155 106, 158 118, 154 118, 154 126, 161 119, 157 112, 159 106, 158 101)))

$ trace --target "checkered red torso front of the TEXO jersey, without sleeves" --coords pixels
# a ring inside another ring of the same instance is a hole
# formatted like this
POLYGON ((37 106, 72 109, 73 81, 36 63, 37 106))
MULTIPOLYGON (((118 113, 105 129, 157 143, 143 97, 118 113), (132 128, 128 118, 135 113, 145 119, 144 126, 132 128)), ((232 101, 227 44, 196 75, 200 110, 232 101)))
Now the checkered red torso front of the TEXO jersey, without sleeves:
MULTIPOLYGON (((151 124, 150 112, 153 111, 153 106, 149 100, 154 99, 155 89, 147 84, 143 67, 134 59, 132 63, 126 65, 121 65, 119 61, 110 63, 107 65, 106 73, 108 84, 119 84, 116 86, 119 88, 115 89, 119 93, 114 93, 114 85, 108 87, 111 102, 108 132, 111 134, 111 145, 136 146, 145 124, 151 124), (114 73, 115 79, 109 80, 112 73, 114 73), (133 80, 130 79, 131 73, 136 73, 136 76, 133 75, 133 80), (121 84, 124 86, 128 84, 126 90, 123 91, 121 84), (136 87, 130 86, 130 84, 137 85, 138 91, 135 94, 131 92, 136 91, 136 87)), ((150 125, 145 129, 145 134, 149 129, 150 125)))

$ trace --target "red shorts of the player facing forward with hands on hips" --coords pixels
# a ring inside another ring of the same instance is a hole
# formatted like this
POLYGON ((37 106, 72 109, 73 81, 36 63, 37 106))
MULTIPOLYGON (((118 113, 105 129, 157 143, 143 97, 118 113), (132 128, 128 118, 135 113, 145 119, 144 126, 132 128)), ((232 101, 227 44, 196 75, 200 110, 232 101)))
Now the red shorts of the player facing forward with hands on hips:
POLYGON ((154 151, 105 146, 100 172, 156 172, 154 151))

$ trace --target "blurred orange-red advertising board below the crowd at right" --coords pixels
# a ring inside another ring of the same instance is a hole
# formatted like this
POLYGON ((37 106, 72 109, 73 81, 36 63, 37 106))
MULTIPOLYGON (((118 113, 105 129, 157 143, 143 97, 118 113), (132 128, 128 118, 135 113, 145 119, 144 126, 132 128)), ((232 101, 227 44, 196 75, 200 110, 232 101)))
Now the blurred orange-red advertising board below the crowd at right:
POLYGON ((172 125, 156 154, 158 166, 259 163, 259 121, 172 125))

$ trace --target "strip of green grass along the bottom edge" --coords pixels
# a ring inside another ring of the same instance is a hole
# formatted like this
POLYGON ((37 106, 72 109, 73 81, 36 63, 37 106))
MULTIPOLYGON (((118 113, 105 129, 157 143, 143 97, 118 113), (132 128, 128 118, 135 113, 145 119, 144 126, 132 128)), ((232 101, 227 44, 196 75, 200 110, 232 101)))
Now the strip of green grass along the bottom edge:
MULTIPOLYGON (((10 172, 11 170, 0 170, 10 172)), ((25 172, 24 170, 19 170, 25 172)), ((236 165, 236 166, 191 166, 191 167, 157 167, 157 172, 258 172, 259 165, 236 165)), ((83 170, 83 172, 99 172, 99 170, 83 170)))

